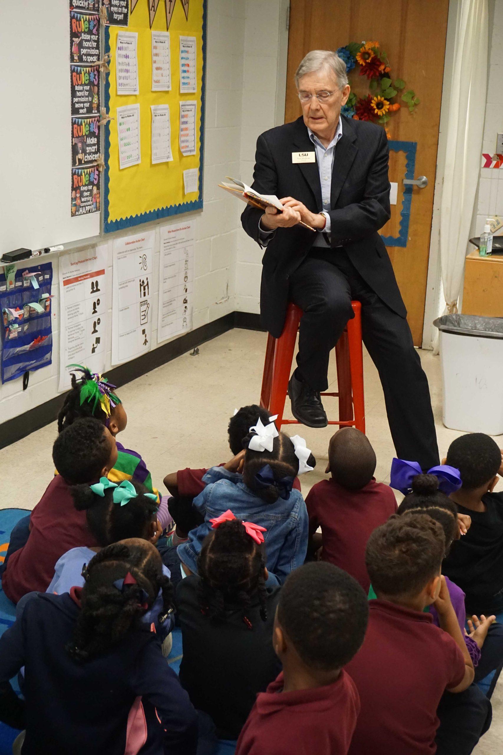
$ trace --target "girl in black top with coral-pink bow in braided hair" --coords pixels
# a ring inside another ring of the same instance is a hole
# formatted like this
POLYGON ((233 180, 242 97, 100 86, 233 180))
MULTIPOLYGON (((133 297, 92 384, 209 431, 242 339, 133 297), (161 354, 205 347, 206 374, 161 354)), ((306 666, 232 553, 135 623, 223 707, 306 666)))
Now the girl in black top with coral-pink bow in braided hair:
POLYGON ((212 526, 199 553, 199 576, 176 588, 179 677, 192 704, 212 717, 219 738, 237 739, 257 693, 281 670, 272 647, 279 587, 265 587, 261 528, 230 512, 212 526))

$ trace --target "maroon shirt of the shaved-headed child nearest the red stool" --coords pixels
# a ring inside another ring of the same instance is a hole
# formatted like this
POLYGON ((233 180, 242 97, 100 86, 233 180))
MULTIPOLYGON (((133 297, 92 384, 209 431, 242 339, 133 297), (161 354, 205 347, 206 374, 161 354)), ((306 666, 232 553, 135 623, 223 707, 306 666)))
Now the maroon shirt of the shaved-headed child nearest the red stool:
POLYGON ((397 510, 397 500, 389 485, 371 479, 360 490, 348 490, 333 479, 323 479, 308 492, 305 505, 309 534, 321 527, 321 560, 344 569, 368 593, 367 541, 376 527, 397 510))

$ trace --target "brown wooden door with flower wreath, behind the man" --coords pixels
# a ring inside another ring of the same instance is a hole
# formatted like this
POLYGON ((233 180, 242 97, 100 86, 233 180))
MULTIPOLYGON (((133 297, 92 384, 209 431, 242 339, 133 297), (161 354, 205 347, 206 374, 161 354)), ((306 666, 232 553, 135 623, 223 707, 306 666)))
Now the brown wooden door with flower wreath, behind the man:
MULTIPOLYGON (((336 50, 349 42, 378 41, 388 54, 391 78, 403 79, 406 89, 419 97, 416 112, 411 115, 402 103, 387 124, 391 140, 417 144, 415 177, 428 178, 425 189, 412 190, 406 246, 388 246, 416 346, 422 343, 425 314, 448 8, 449 0, 290 0, 285 122, 302 114, 293 80, 302 57, 310 50, 336 50)), ((365 76, 354 70, 349 80, 357 95, 367 95, 365 76)), ((398 183, 398 196, 383 236, 400 235, 405 167, 405 153, 391 152, 389 178, 398 183)))

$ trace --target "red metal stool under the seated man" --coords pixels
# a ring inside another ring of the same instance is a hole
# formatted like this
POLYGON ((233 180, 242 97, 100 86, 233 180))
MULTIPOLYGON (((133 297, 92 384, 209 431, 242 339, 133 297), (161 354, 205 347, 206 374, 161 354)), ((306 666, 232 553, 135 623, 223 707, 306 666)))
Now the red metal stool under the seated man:
MULTIPOLYGON (((339 396, 339 420, 328 424, 341 427, 356 427, 365 432, 365 404, 363 400, 363 350, 361 341, 361 304, 351 301, 354 319, 348 320, 345 331, 336 344, 337 393, 322 393, 322 396, 339 396)), ((287 398, 288 381, 292 368, 293 352, 302 310, 289 304, 283 333, 279 338, 268 335, 265 350, 264 374, 260 405, 269 414, 278 414, 275 421, 278 430, 284 424, 300 424, 297 420, 283 418, 287 398)))

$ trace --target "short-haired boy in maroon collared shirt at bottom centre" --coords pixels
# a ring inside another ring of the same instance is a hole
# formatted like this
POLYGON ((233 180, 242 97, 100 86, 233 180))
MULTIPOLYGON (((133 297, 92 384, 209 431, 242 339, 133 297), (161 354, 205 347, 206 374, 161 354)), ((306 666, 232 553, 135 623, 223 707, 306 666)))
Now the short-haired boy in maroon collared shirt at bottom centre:
POLYGON ((332 564, 305 564, 287 578, 273 636, 283 672, 256 698, 236 755, 348 752, 360 703, 344 667, 367 616, 360 585, 332 564))

